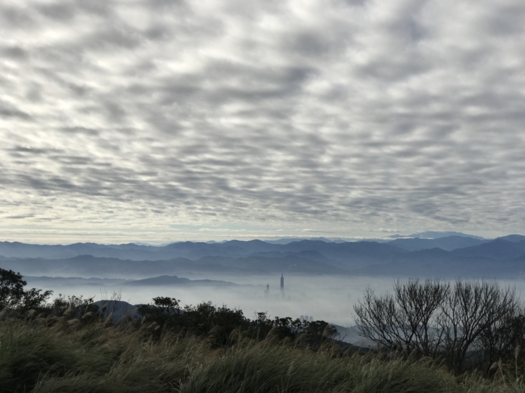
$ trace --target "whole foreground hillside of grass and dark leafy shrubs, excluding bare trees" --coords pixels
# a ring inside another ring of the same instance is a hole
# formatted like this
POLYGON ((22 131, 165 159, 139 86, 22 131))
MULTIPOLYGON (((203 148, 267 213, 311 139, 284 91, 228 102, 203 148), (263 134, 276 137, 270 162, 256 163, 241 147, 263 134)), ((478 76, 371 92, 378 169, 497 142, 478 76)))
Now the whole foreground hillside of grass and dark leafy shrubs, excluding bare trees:
POLYGON ((342 349, 323 321, 253 321, 211 303, 155 298, 142 318, 112 319, 91 299, 24 290, 1 271, 0 391, 22 392, 513 392, 523 364, 449 372, 404 348, 342 349))

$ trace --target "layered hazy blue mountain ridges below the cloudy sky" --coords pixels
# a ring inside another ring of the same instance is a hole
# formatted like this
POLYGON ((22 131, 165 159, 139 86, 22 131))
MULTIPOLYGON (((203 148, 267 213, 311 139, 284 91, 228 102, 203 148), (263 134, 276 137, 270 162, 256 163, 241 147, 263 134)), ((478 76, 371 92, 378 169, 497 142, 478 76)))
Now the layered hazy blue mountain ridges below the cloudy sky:
POLYGON ((149 278, 163 275, 371 275, 517 278, 525 274, 525 236, 464 234, 333 242, 181 242, 34 245, 0 242, 0 267, 23 275, 149 278))

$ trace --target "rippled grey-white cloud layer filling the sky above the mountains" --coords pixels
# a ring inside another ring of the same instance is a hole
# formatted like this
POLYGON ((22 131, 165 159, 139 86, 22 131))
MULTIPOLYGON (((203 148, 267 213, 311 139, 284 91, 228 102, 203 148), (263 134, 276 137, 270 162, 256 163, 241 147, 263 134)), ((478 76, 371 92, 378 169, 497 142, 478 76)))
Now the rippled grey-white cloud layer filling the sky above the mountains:
POLYGON ((0 3, 0 232, 525 232, 525 3, 0 3))

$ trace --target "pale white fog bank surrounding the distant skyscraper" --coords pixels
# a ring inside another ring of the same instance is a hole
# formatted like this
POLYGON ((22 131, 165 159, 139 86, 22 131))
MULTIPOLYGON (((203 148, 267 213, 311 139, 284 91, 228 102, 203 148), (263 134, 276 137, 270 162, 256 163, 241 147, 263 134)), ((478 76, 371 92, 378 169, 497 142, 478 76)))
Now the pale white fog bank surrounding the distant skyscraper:
MULTIPOLYGON (((28 287, 50 289, 54 296, 59 293, 84 297, 94 297, 95 301, 111 298, 119 292, 121 300, 131 304, 150 303, 157 296, 173 297, 181 304, 211 301, 216 305, 243 310, 248 318, 256 312, 268 312, 269 316, 300 315, 313 316, 314 320, 330 323, 354 325, 353 305, 362 297, 367 286, 377 293, 392 290, 394 278, 358 276, 285 276, 285 296, 280 293, 280 276, 240 276, 240 277, 189 277, 191 279, 224 280, 239 284, 232 287, 181 287, 181 286, 127 286, 122 283, 106 285, 71 285, 72 282, 46 282, 36 277, 26 277, 28 287), (267 283, 270 284, 269 297, 265 297, 267 283)), ((518 293, 525 293, 525 281, 500 281, 500 285, 516 286, 518 293)))

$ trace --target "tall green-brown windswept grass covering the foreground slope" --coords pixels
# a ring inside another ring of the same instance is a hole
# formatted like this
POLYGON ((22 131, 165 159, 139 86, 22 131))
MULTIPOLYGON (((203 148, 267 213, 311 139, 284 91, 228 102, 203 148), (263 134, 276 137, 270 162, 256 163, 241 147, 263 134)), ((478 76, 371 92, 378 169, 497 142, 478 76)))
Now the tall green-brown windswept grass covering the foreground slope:
POLYGON ((82 324, 48 317, 0 322, 2 392, 518 392, 522 380, 456 378, 428 360, 346 356, 336 345, 318 351, 274 338, 235 333, 228 348, 206 338, 148 326, 82 324), (53 324, 52 326, 49 326, 53 324))

